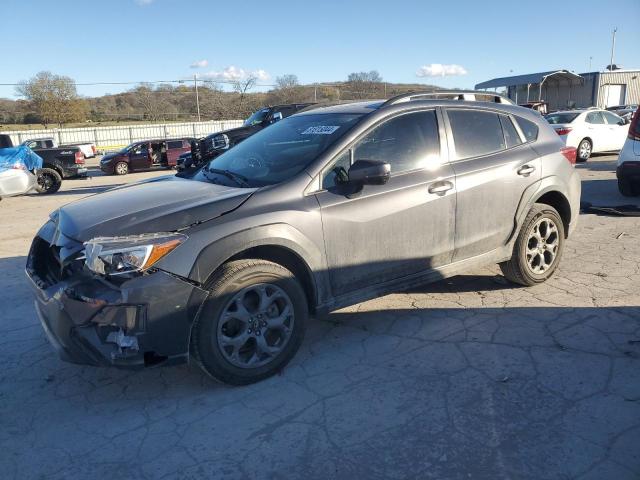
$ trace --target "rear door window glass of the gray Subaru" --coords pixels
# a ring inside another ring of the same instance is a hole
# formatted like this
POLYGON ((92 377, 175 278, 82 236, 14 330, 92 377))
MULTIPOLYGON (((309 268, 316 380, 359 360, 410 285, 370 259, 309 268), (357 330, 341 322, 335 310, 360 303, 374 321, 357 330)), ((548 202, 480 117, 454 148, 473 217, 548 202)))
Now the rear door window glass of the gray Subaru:
POLYGON ((459 159, 488 155, 506 147, 497 113, 480 110, 448 110, 459 159))

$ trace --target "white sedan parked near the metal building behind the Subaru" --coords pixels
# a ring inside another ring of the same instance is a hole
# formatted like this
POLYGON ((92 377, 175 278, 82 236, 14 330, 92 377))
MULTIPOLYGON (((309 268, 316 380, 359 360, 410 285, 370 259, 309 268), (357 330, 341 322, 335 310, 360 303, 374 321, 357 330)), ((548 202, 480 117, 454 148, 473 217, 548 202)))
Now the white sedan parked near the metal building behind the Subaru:
POLYGON ((544 118, 565 145, 578 150, 581 162, 586 162, 592 153, 619 151, 629 129, 628 121, 597 108, 554 112, 544 118))

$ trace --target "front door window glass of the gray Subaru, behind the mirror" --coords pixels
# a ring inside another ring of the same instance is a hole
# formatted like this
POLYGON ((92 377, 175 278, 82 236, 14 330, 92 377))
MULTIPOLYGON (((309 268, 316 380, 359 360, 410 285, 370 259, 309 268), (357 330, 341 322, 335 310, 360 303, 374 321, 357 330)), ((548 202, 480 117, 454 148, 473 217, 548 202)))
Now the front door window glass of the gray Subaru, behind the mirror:
POLYGON ((434 110, 400 115, 367 133, 354 147, 353 161, 378 160, 391 174, 424 168, 440 156, 434 110))

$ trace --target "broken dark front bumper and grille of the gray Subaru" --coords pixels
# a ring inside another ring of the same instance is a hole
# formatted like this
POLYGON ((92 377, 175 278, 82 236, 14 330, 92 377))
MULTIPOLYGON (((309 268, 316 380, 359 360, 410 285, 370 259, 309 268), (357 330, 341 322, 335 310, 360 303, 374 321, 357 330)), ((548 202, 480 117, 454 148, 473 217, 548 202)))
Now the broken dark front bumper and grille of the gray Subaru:
POLYGON ((63 360, 142 367, 187 359, 206 291, 162 270, 108 281, 82 260, 61 262, 60 237, 34 239, 26 273, 40 322, 63 360))

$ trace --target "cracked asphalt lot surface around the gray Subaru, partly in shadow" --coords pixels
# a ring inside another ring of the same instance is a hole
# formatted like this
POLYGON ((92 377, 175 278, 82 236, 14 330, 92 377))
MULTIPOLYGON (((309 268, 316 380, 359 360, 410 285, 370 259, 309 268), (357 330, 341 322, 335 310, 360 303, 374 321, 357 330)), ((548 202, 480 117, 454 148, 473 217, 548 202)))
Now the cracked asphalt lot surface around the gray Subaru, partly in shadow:
MULTIPOLYGON (((578 168, 584 200, 633 203, 615 157, 578 168)), ((2 478, 640 478, 640 217, 581 215, 544 285, 491 267, 313 320, 249 387, 62 362, 23 273, 33 235, 59 205, 163 173, 0 202, 2 478)))

